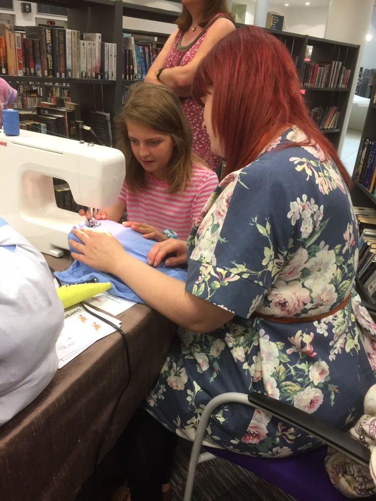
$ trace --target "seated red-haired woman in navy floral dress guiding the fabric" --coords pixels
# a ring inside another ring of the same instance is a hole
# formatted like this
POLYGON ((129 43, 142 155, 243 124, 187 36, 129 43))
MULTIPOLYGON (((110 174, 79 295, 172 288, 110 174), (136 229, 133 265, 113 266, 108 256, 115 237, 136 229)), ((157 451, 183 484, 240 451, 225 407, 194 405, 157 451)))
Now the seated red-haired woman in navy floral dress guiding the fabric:
MULTIPOLYGON (((135 420, 127 434, 138 450, 127 452, 132 501, 143 489, 160 498, 175 437, 193 440, 216 395, 258 391, 344 428, 376 381, 376 325, 354 290, 350 179, 309 117, 286 48, 260 28, 236 30, 202 61, 193 90, 227 171, 189 237, 185 287, 108 235, 77 231, 84 244, 72 242, 84 253, 74 258, 117 275, 181 326, 143 405, 150 414, 141 410, 140 432, 135 420)), ((156 244, 150 263, 171 249, 181 256, 183 245, 156 244)), ((217 409, 205 439, 257 457, 321 445, 235 404, 217 409)))

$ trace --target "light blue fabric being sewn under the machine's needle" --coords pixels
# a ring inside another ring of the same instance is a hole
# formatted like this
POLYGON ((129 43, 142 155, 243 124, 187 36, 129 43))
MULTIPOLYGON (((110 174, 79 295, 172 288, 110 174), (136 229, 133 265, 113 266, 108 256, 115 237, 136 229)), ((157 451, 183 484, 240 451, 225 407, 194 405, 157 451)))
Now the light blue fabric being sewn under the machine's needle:
MULTIPOLYGON (((73 227, 80 229, 84 225, 85 223, 82 221, 78 224, 75 224, 73 227)), ((143 238, 141 233, 133 231, 131 228, 126 228, 122 224, 114 221, 102 220, 100 226, 92 229, 98 231, 109 231, 120 241, 124 249, 131 256, 134 256, 143 263, 147 262, 147 253, 155 244, 155 240, 143 238)), ((69 233, 68 238, 79 242, 81 241, 72 233, 72 231, 69 233)), ((70 247, 70 250, 75 252, 72 247, 70 247)), ((162 273, 165 273, 166 275, 169 275, 170 277, 185 282, 185 270, 182 270, 180 268, 168 268, 163 263, 158 265, 156 269, 162 273)), ((137 294, 135 294, 132 289, 130 289, 127 285, 124 284, 124 282, 119 280, 114 275, 100 272, 98 270, 95 270, 94 268, 91 268, 90 266, 80 263, 79 261, 75 261, 73 265, 64 272, 55 272, 55 276, 65 284, 80 284, 83 282, 93 281, 94 279, 97 279, 98 282, 110 282, 112 287, 108 290, 108 292, 113 296, 119 296, 130 301, 135 301, 136 303, 145 304, 145 302, 142 301, 142 299, 137 296, 137 294)))

